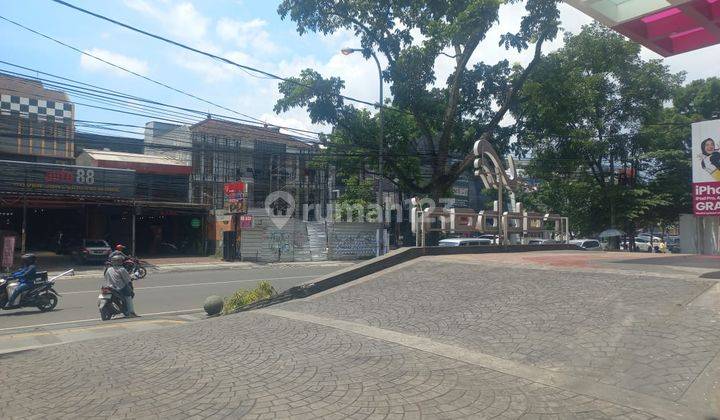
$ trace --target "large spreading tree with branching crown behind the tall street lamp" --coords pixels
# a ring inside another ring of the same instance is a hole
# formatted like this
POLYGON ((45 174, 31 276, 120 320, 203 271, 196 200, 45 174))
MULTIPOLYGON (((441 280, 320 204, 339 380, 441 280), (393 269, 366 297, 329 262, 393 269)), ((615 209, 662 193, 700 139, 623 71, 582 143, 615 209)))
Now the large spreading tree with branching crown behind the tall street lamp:
MULTIPOLYGON (((500 122, 537 66, 543 44, 557 34, 556 6, 557 0, 284 0, 278 12, 300 34, 350 30, 366 58, 380 56, 392 92, 384 104, 381 175, 404 191, 439 198, 472 164, 474 141, 486 139, 500 149, 507 143, 500 122), (500 7, 513 3, 522 3, 526 13, 501 45, 532 49, 532 59, 525 67, 486 63, 483 41, 499 23, 500 7), (453 70, 447 80, 437 80, 436 62, 446 57, 453 70)), ((341 97, 343 87, 337 77, 303 70, 280 84, 283 97, 275 110, 303 107, 313 122, 332 125, 328 156, 341 170, 375 168, 378 113, 341 97)))

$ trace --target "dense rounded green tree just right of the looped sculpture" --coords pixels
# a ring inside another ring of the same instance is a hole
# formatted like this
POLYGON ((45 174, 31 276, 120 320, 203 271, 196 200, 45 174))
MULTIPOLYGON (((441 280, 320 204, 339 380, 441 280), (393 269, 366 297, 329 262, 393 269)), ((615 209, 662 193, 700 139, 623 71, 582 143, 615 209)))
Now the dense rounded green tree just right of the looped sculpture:
MULTIPOLYGON (((649 166, 663 138, 646 127, 664 119, 683 75, 599 24, 568 35, 525 83, 514 106, 516 151, 546 181, 540 201, 567 214, 576 229, 634 229, 670 196, 649 187, 672 168, 649 166), (655 134, 655 135, 653 135, 655 134)), ((665 139, 663 145, 670 140, 665 139)))

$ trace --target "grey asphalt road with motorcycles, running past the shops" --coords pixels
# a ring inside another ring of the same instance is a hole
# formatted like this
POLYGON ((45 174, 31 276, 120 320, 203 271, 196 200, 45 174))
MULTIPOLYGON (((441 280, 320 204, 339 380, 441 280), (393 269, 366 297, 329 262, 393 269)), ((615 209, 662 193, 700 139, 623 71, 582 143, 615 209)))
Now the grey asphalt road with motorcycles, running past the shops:
MULTIPOLYGON (((227 296, 239 288, 249 289, 267 280, 280 292, 289 287, 340 269, 338 266, 284 266, 252 269, 205 270, 152 273, 135 283, 135 308, 142 314, 192 311, 201 308, 210 295, 227 296)), ((98 277, 61 278, 56 290, 60 302, 52 312, 37 309, 0 310, 0 333, 18 327, 66 324, 98 319, 97 296, 102 279, 98 277)))

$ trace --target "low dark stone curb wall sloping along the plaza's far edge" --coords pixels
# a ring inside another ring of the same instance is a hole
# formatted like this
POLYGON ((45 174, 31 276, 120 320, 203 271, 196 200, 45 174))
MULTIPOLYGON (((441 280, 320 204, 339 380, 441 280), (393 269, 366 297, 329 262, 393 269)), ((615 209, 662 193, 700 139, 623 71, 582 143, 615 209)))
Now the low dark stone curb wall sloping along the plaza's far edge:
POLYGON ((355 264, 351 267, 326 274, 312 283, 291 287, 284 292, 270 298, 246 305, 236 312, 264 308, 266 306, 287 302, 293 299, 302 299, 316 293, 324 292, 333 287, 341 286, 351 281, 375 274, 379 271, 393 267, 404 262, 425 256, 462 255, 462 254, 495 254, 511 252, 533 251, 584 251, 576 245, 481 245, 468 247, 407 247, 391 251, 381 257, 355 264))

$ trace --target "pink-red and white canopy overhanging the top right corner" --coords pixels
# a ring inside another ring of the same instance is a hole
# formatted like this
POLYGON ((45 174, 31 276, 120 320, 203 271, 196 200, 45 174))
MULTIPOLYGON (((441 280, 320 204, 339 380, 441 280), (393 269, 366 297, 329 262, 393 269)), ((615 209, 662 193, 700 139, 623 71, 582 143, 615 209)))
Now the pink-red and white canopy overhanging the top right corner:
POLYGON ((669 57, 720 43, 720 0, 565 0, 669 57))

